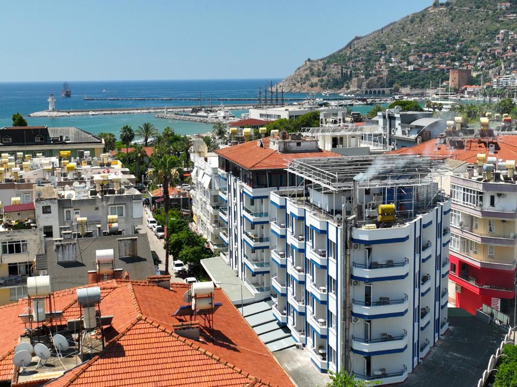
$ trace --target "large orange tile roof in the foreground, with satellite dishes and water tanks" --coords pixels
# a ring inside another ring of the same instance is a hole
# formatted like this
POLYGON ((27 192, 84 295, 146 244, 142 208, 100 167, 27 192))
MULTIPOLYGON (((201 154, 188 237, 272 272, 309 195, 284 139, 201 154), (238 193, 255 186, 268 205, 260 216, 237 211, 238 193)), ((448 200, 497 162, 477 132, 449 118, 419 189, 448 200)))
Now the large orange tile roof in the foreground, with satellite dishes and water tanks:
MULTIPOLYGON (((222 306, 214 315, 212 342, 202 318, 197 320, 200 340, 173 331, 173 324, 188 321, 173 317, 176 308, 185 304, 187 284, 172 284, 170 290, 145 281, 114 280, 95 286, 101 287, 102 314, 114 316, 105 330, 106 348, 45 385, 240 387, 255 381, 257 386, 294 386, 221 289, 215 292, 222 306)), ((54 293, 55 309, 64 313, 63 323, 80 316, 75 299, 75 289, 54 293)), ((27 300, 0 307, 5 324, 0 336, 0 382, 13 376, 12 350, 24 332, 18 315, 26 308, 27 300)))

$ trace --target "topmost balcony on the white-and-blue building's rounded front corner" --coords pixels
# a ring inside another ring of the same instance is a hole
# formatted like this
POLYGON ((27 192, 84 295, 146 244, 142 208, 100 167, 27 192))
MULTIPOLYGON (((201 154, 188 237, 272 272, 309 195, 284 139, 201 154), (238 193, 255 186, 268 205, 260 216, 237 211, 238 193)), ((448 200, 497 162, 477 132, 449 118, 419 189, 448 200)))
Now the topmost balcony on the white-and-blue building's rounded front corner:
POLYGON ((370 265, 352 264, 352 279, 363 282, 402 280, 409 273, 409 259, 372 262, 370 265))

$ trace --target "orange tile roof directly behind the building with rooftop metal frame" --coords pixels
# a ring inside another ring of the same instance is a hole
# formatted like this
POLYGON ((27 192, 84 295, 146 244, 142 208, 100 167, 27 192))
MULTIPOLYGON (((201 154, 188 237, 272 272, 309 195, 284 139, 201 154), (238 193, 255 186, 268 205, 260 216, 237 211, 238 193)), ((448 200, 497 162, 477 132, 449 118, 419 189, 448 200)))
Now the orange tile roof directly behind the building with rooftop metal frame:
POLYGON ((287 167, 290 161, 295 159, 340 156, 337 153, 327 150, 279 153, 275 149, 269 148, 269 138, 270 137, 265 137, 262 138, 262 140, 217 149, 215 152, 219 154, 219 156, 246 169, 283 169, 287 167), (263 146, 261 146, 261 143, 263 146))

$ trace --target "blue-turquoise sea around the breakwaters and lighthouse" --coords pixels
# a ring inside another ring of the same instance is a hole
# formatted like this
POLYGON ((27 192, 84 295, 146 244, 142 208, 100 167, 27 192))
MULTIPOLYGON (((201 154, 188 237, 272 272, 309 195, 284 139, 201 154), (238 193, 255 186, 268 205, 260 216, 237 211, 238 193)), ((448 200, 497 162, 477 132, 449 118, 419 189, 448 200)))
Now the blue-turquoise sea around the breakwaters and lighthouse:
MULTIPOLYGON (((0 83, 0 127, 12 124, 14 113, 22 114, 29 126, 77 127, 98 134, 111 132, 118 137, 121 127, 130 125, 136 130, 144 122, 151 122, 161 132, 172 127, 178 134, 207 133, 211 125, 199 122, 155 118, 154 114, 112 114, 73 117, 27 117, 28 114, 48 109, 47 99, 52 92, 57 110, 118 109, 121 107, 175 107, 199 105, 188 98, 212 98, 202 101, 202 106, 218 106, 217 98, 257 98, 258 90, 269 82, 281 79, 232 79, 232 80, 168 80, 168 81, 91 81, 68 82, 72 91, 70 98, 60 97, 63 82, 3 82, 0 83), (89 98, 185 98, 180 101, 92 101, 89 98)), ((268 86, 269 87, 269 86, 268 86)), ((269 94, 268 94, 269 96, 269 94)), ((284 98, 305 98, 305 93, 284 93, 284 98)), ((318 97, 321 97, 319 95, 318 97)), ((333 96, 334 97, 334 96, 333 96)), ((337 97, 337 96, 335 96, 337 97)), ((279 91, 280 98, 280 91, 279 91)), ((274 99, 273 99, 274 101, 274 99)), ((223 102, 224 103, 224 102, 223 102)), ((231 104, 249 104, 250 101, 231 101, 231 104)), ((367 113, 372 106, 354 106, 353 110, 367 113)), ((233 110, 240 117, 247 110, 233 110)))

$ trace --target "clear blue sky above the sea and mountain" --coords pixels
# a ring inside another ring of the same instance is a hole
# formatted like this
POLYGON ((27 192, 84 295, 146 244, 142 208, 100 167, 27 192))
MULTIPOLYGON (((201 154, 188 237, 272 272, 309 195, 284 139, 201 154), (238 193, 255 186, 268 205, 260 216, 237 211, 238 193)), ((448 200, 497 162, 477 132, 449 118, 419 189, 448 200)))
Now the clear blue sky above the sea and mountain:
POLYGON ((5 0, 0 82, 281 78, 431 2, 5 0))

